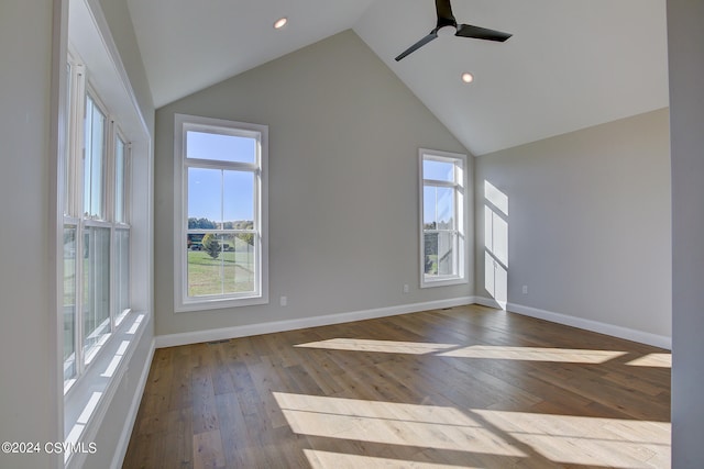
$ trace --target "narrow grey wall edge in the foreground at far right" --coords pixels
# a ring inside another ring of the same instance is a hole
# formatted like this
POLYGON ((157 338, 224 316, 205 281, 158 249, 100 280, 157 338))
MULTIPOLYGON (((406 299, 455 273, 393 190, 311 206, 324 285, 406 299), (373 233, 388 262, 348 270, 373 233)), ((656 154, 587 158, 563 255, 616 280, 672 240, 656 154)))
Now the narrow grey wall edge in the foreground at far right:
POLYGON ((668 0, 672 134, 672 467, 704 461, 704 2, 668 0))

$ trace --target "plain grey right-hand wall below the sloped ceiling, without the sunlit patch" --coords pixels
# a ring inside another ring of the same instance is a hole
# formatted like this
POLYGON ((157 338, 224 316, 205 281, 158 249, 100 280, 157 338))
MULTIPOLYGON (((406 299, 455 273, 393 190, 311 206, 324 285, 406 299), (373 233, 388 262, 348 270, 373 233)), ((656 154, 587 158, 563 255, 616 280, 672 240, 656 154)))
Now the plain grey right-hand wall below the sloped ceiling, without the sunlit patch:
POLYGON ((669 340, 667 109, 477 158, 476 292, 490 297, 485 180, 508 197, 509 310, 528 306, 669 340))

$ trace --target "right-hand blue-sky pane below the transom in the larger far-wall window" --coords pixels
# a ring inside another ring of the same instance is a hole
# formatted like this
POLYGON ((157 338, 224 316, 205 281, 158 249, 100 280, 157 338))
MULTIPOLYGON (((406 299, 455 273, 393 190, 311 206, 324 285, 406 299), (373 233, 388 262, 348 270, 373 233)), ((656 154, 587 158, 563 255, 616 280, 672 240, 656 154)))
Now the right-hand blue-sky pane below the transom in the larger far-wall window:
MULTIPOLYGON (((224 171, 223 221, 232 222, 226 228, 245 227, 254 222, 254 174, 224 171), (244 223, 243 223, 244 222, 244 223)), ((251 227, 251 226, 249 226, 251 227)))

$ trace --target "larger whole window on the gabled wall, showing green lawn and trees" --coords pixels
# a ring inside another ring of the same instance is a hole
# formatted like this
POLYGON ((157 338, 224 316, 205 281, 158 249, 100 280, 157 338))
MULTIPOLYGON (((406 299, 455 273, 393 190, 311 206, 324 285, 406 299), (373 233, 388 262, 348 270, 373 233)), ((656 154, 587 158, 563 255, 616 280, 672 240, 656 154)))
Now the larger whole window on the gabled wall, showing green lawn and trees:
POLYGON ((268 301, 267 127, 176 115, 177 311, 268 301))

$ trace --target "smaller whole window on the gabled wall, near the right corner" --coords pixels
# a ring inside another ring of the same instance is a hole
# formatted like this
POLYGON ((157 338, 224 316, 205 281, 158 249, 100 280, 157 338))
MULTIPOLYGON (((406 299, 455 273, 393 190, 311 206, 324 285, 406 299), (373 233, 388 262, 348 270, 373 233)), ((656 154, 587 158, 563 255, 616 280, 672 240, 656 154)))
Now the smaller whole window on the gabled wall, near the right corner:
POLYGON ((420 149, 420 286, 466 282, 466 156, 420 149))

